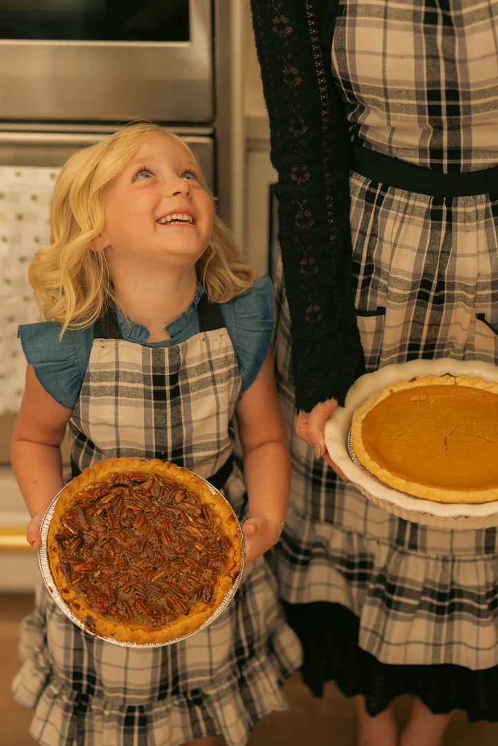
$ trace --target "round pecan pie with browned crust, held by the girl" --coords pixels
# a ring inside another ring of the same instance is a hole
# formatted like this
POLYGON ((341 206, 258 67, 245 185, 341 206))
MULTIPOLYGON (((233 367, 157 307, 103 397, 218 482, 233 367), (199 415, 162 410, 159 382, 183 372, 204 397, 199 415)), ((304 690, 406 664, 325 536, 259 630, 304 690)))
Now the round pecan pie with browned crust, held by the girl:
POLYGON ((84 627, 122 642, 168 642, 198 629, 242 563, 230 505, 187 469, 110 459, 60 492, 47 535, 60 598, 84 627))

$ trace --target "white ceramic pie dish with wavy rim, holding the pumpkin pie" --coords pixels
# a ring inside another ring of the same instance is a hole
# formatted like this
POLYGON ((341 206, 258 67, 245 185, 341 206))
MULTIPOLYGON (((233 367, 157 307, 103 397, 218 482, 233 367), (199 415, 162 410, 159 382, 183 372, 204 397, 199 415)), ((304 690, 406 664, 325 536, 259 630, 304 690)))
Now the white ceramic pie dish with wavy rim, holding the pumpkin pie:
POLYGON ((498 526, 498 501, 481 504, 445 504, 414 498, 397 492, 367 472, 355 459, 349 443, 349 430, 355 410, 373 393, 390 383, 413 376, 465 374, 498 382, 498 367, 479 360, 411 360, 400 365, 385 366, 367 373, 353 383, 345 406, 337 407, 326 423, 325 442, 332 461, 366 498, 400 518, 442 528, 474 529, 498 526))

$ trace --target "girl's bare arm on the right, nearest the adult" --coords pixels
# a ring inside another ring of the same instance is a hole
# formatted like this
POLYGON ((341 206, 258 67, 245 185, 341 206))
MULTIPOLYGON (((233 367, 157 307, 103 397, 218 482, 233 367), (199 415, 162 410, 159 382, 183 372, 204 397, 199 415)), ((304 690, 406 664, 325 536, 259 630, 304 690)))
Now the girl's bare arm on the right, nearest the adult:
POLYGON ((280 538, 290 489, 287 434, 278 404, 273 355, 237 404, 250 518, 243 524, 246 565, 280 538))

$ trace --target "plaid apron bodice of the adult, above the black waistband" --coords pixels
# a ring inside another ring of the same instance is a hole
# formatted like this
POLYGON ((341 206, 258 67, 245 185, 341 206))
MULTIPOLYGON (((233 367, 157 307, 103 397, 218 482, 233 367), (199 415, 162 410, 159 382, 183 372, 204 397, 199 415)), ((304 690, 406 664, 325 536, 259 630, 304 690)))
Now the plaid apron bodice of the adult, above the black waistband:
POLYGON ((340 0, 332 68, 352 131, 435 171, 494 166, 497 25, 497 0, 340 0))

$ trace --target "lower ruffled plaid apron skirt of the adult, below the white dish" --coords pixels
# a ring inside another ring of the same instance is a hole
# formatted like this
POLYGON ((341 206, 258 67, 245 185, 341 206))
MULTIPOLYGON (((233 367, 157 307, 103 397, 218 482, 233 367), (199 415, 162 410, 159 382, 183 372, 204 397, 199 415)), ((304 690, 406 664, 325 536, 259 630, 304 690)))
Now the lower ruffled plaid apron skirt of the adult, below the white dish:
MULTIPOLYGON (((314 460, 294 433, 287 304, 280 292, 282 300, 276 365, 293 462, 277 545, 282 598, 343 604, 360 619, 361 648, 385 663, 497 665, 497 529, 440 530, 397 518, 314 460)), ((362 333, 367 346, 379 336, 362 333)))

